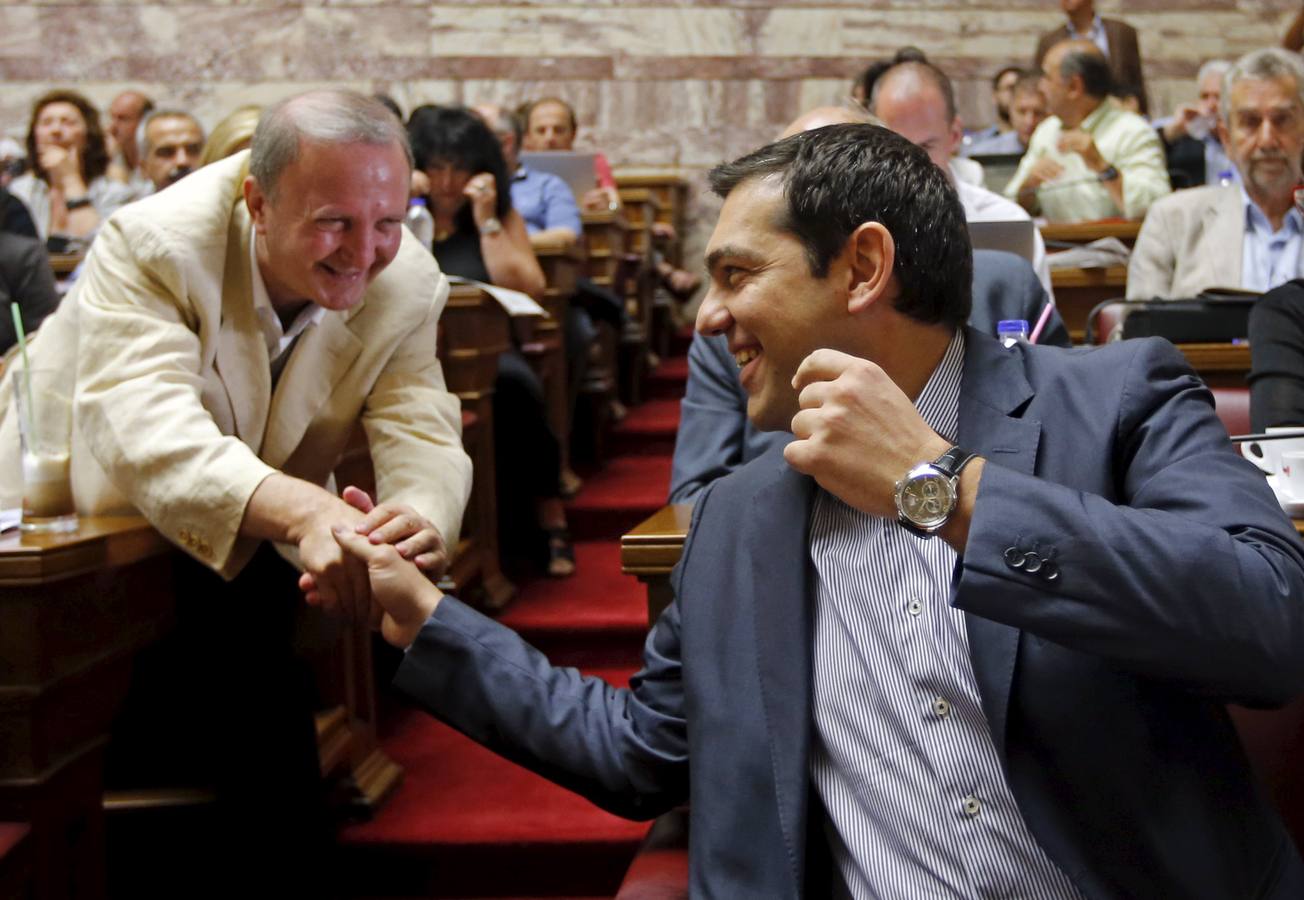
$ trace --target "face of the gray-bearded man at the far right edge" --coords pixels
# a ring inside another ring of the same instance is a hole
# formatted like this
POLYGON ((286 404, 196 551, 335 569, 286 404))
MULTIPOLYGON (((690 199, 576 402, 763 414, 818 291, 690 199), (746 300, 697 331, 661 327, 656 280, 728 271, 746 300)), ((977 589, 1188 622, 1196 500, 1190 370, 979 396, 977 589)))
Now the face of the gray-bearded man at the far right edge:
POLYGON ((1232 85, 1223 146, 1251 194, 1281 198, 1300 183, 1304 108, 1295 80, 1244 78, 1232 85))

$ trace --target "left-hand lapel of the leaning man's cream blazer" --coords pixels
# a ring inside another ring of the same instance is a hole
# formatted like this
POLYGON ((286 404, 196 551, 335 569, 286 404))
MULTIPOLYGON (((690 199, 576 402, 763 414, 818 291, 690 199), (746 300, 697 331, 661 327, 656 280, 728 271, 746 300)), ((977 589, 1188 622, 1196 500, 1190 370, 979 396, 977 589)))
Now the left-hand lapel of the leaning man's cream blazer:
POLYGON ((227 391, 236 424, 236 437, 253 447, 262 446, 271 394, 267 344, 253 309, 253 273, 249 241, 253 239, 244 200, 237 200, 227 231, 227 260, 222 274, 222 323, 213 367, 227 391))

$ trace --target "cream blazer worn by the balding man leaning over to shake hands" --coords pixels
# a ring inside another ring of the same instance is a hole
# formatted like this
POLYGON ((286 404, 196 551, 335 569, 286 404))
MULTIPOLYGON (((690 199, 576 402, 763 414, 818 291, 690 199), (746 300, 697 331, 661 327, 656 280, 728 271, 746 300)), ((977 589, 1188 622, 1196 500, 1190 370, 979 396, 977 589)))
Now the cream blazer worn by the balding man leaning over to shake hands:
MULTIPOLYGON (((282 471, 326 485, 361 420, 382 500, 455 547, 471 490, 458 399, 436 359, 447 279, 411 235, 361 304, 308 329, 271 389, 253 309, 248 153, 123 207, 31 342, 76 372, 73 494, 86 515, 138 510, 226 578, 257 543, 245 505, 282 471)), ((12 370, 12 365, 7 370, 12 370)), ((10 378, 0 382, 0 490, 21 497, 10 378)))

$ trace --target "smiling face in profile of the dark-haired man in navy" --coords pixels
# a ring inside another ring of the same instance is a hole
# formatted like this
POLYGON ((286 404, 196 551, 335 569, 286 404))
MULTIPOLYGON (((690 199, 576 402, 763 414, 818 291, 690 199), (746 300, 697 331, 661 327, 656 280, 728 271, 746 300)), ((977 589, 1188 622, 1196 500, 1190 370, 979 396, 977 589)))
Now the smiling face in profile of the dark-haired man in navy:
POLYGON ((729 193, 707 244, 711 287, 696 323, 704 335, 728 335, 747 417, 762 430, 792 428, 797 367, 819 347, 837 347, 848 314, 848 266, 835 258, 827 277, 811 274, 802 243, 776 227, 785 202, 772 179, 729 193))

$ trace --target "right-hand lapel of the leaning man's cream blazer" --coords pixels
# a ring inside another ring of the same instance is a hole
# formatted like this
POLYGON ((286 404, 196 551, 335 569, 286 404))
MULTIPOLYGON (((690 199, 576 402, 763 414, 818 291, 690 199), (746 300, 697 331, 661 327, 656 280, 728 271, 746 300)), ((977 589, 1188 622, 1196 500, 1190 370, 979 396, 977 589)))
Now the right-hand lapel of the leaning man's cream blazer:
POLYGON ((299 337, 271 397, 271 416, 262 459, 280 468, 299 447, 309 423, 335 391, 348 372, 363 342, 349 329, 349 320, 361 305, 347 313, 327 312, 299 337))

